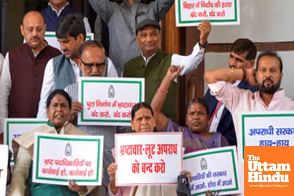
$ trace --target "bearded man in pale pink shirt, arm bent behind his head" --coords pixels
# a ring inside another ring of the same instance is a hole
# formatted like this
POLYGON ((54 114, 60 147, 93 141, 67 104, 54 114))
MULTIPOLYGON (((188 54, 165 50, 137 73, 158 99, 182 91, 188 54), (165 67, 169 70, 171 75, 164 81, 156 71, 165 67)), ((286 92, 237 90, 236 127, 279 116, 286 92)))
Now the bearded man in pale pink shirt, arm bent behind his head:
MULTIPOLYGON (((283 78, 283 62, 275 51, 261 52, 256 60, 256 69, 221 68, 206 71, 204 78, 211 94, 232 113, 237 143, 242 140, 239 138, 241 132, 240 112, 294 110, 294 101, 287 98, 285 91, 280 89, 283 78), (252 86, 258 86, 259 91, 252 93, 234 87, 231 81, 240 79, 247 80, 252 86)), ((241 163, 239 168, 241 169, 239 173, 243 176, 244 163, 241 163)), ((244 181, 244 177, 241 179, 244 181)))

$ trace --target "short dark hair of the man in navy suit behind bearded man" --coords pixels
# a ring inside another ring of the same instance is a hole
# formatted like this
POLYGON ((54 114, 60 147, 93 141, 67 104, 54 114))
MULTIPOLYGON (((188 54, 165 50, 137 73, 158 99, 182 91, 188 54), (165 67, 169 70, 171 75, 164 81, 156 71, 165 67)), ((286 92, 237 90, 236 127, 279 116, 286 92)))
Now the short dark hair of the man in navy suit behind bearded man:
POLYGON ((255 59, 257 53, 257 49, 254 43, 246 38, 237 39, 233 43, 231 51, 238 55, 245 53, 245 59, 247 61, 255 59))

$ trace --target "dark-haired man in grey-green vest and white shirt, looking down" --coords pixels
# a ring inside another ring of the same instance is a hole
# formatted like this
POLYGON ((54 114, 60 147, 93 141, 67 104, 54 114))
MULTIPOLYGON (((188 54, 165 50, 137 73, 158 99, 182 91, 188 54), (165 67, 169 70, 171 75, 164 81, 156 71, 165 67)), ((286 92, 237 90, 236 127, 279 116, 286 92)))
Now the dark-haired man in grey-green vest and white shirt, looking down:
MULTIPOLYGON (((79 47, 85 42, 86 30, 80 14, 69 14, 58 20, 56 37, 63 54, 50 59, 46 65, 37 118, 47 119, 46 100, 54 89, 64 89, 77 82, 81 71, 79 47)), ((104 51, 103 47, 102 50, 104 51)), ((118 74, 112 61, 105 58, 109 77, 118 74)))

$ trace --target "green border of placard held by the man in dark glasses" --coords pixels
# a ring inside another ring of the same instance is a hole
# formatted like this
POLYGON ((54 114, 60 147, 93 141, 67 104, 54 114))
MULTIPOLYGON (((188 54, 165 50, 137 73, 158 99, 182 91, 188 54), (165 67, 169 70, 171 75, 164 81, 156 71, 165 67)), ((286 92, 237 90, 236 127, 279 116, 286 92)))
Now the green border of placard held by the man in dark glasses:
MULTIPOLYGON (((126 83, 126 84, 139 84, 139 102, 142 101, 142 81, 119 81, 119 80, 82 80, 81 81, 81 102, 84 102, 84 85, 85 83, 126 83)), ((130 120, 92 120, 84 119, 84 112, 81 111, 81 122, 105 122, 105 123, 129 123, 130 120)))

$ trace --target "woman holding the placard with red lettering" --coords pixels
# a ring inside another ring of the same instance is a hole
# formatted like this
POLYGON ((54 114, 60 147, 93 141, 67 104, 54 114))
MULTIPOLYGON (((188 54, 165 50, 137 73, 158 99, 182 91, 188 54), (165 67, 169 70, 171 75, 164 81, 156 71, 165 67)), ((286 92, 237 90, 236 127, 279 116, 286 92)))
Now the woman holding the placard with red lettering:
MULTIPOLYGON (((137 133, 153 132, 156 123, 153 110, 149 104, 140 102, 133 106, 131 111, 131 126, 134 131, 137 133)), ((110 196, 176 196, 176 185, 117 187, 115 177, 117 167, 118 165, 116 163, 111 163, 108 167, 110 196)), ((192 180, 191 172, 181 171, 181 173, 185 173, 192 180)))

